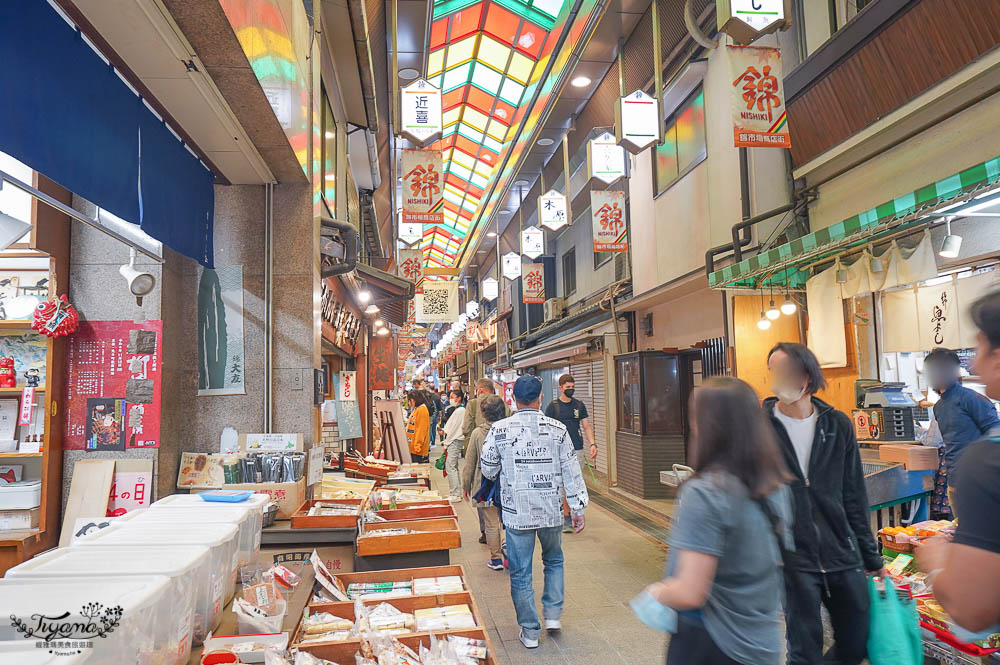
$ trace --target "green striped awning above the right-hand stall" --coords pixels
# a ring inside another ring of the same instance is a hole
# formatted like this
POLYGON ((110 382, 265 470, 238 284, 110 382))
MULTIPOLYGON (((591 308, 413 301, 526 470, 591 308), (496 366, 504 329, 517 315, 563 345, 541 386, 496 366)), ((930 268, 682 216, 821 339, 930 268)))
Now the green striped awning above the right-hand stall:
POLYGON ((802 287, 810 274, 804 266, 878 240, 878 234, 923 223, 923 215, 1000 181, 1000 157, 898 196, 825 229, 797 238, 708 276, 714 289, 802 287), (883 227, 883 228, 880 228, 883 227))

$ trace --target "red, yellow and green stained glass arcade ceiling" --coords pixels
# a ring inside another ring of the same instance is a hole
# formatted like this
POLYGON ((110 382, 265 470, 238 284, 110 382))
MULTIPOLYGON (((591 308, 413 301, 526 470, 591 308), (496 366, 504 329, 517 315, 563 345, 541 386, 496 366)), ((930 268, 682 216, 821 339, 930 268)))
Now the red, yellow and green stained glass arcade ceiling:
POLYGON ((429 266, 454 261, 558 37, 568 0, 435 0, 427 79, 442 90, 444 224, 421 242, 429 266))

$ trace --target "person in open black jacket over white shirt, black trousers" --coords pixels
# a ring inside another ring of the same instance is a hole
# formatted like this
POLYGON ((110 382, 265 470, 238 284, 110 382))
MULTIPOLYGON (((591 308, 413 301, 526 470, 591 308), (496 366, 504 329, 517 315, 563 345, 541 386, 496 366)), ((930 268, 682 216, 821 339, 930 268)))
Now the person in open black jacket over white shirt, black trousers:
POLYGON ((880 573, 883 562, 869 526, 854 426, 815 397, 826 380, 808 348, 778 344, 767 366, 777 397, 764 400, 764 409, 795 477, 795 551, 785 570, 788 665, 857 665, 868 642, 865 572, 880 573), (825 656, 821 605, 834 635, 825 656))

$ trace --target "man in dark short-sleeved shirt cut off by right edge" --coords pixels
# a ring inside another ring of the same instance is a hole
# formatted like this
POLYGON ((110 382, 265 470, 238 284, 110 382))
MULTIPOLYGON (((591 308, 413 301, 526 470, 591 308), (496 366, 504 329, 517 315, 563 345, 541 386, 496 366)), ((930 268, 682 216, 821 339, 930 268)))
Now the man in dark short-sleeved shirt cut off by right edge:
MULTIPOLYGON (((1000 399, 1000 291, 972 305, 979 328, 976 374, 1000 399)), ((917 549, 934 596, 955 623, 978 633, 1000 624, 1000 438, 970 444, 958 461, 958 528, 949 543, 935 538, 917 549)))

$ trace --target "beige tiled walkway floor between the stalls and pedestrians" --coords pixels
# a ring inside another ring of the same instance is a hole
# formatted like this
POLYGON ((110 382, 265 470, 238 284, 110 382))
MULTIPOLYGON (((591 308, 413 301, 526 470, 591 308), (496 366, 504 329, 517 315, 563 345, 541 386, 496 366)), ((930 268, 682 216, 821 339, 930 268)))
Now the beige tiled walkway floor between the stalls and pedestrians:
MULTIPOLYGON (((440 449, 438 449, 440 450, 440 449)), ((439 452, 437 454, 440 454, 439 452)), ((436 457, 437 455, 432 455, 436 457)), ((447 494, 447 480, 434 471, 434 486, 447 494)), ((543 634, 537 649, 518 641, 518 626, 505 572, 486 567, 488 552, 480 545, 475 508, 457 504, 462 529, 460 550, 452 563, 465 566, 471 590, 492 636, 502 665, 654 665, 664 662, 663 635, 640 624, 628 601, 663 572, 664 548, 631 528, 621 518, 591 503, 587 528, 566 534, 566 601, 563 630, 543 634)), ((535 595, 541 598, 542 563, 536 549, 535 595)), ((541 612, 541 601, 538 601, 541 612)))

